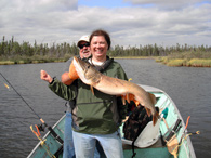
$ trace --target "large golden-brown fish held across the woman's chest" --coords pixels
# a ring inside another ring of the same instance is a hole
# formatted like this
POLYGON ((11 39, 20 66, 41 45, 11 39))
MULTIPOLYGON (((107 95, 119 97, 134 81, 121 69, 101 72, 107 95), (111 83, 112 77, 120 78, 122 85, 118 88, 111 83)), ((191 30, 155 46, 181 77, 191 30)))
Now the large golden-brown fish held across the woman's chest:
MULTIPOLYGON (((106 94, 132 97, 133 101, 137 101, 146 108, 148 116, 153 115, 153 123, 155 126, 159 118, 159 114, 155 108, 155 95, 146 92, 135 83, 105 76, 96 70, 94 66, 76 56, 72 62, 79 78, 83 83, 91 85, 92 92, 93 88, 95 88, 106 94)), ((126 98, 130 101, 129 97, 126 98)))

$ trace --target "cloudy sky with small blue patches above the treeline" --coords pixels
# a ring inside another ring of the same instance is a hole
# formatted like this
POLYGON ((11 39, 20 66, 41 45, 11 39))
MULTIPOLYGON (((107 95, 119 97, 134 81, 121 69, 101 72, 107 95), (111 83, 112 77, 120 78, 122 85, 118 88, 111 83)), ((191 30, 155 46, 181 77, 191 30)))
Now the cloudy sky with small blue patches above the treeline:
POLYGON ((0 36, 77 42, 103 28, 113 47, 211 45, 211 0, 0 0, 0 36))

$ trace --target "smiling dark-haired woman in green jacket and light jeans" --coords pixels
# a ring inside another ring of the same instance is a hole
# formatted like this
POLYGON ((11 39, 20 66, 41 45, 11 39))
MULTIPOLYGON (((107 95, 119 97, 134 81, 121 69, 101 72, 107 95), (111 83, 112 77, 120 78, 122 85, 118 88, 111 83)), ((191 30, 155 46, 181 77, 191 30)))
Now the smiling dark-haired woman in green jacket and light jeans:
MULTIPOLYGON (((110 48, 110 38, 105 30, 95 30, 90 36, 92 57, 88 61, 106 76, 128 80, 121 65, 110 60, 106 53, 110 48)), ((65 100, 75 100, 72 110, 72 135, 76 157, 93 158, 96 140, 101 143, 106 157, 123 158, 119 126, 124 119, 126 105, 114 95, 94 90, 80 79, 77 85, 69 87, 58 80, 49 80, 50 89, 65 100)))

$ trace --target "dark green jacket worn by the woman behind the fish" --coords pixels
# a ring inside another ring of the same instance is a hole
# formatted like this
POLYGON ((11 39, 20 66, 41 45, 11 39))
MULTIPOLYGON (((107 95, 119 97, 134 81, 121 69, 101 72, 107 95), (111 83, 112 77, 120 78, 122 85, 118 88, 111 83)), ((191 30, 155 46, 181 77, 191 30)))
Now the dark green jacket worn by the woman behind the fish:
MULTIPOLYGON (((103 74, 128 80, 121 65, 115 61, 103 70, 103 74)), ((49 84, 49 88, 62 98, 76 100, 76 107, 72 109, 74 130, 90 134, 110 134, 117 131, 126 117, 127 105, 122 105, 120 98, 96 89, 93 95, 90 85, 80 79, 75 82, 77 83, 65 85, 55 79, 49 84)))

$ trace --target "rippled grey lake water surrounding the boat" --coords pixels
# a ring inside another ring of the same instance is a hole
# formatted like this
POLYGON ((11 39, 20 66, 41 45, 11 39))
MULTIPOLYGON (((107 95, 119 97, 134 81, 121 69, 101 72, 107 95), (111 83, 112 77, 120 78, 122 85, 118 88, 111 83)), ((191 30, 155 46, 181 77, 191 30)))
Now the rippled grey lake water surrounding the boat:
MULTIPOLYGON (((197 158, 211 157, 211 68, 168 67, 154 60, 116 60, 132 82, 166 91, 177 105, 183 119, 190 116, 188 131, 200 131, 192 142, 197 158)), ((0 65, 0 73, 12 83, 28 105, 49 124, 64 115, 65 102, 53 94, 40 79, 40 70, 61 79, 65 63, 0 65)), ((38 117, 13 89, 3 85, 0 76, 0 157, 24 158, 38 143, 30 124, 38 117)))

